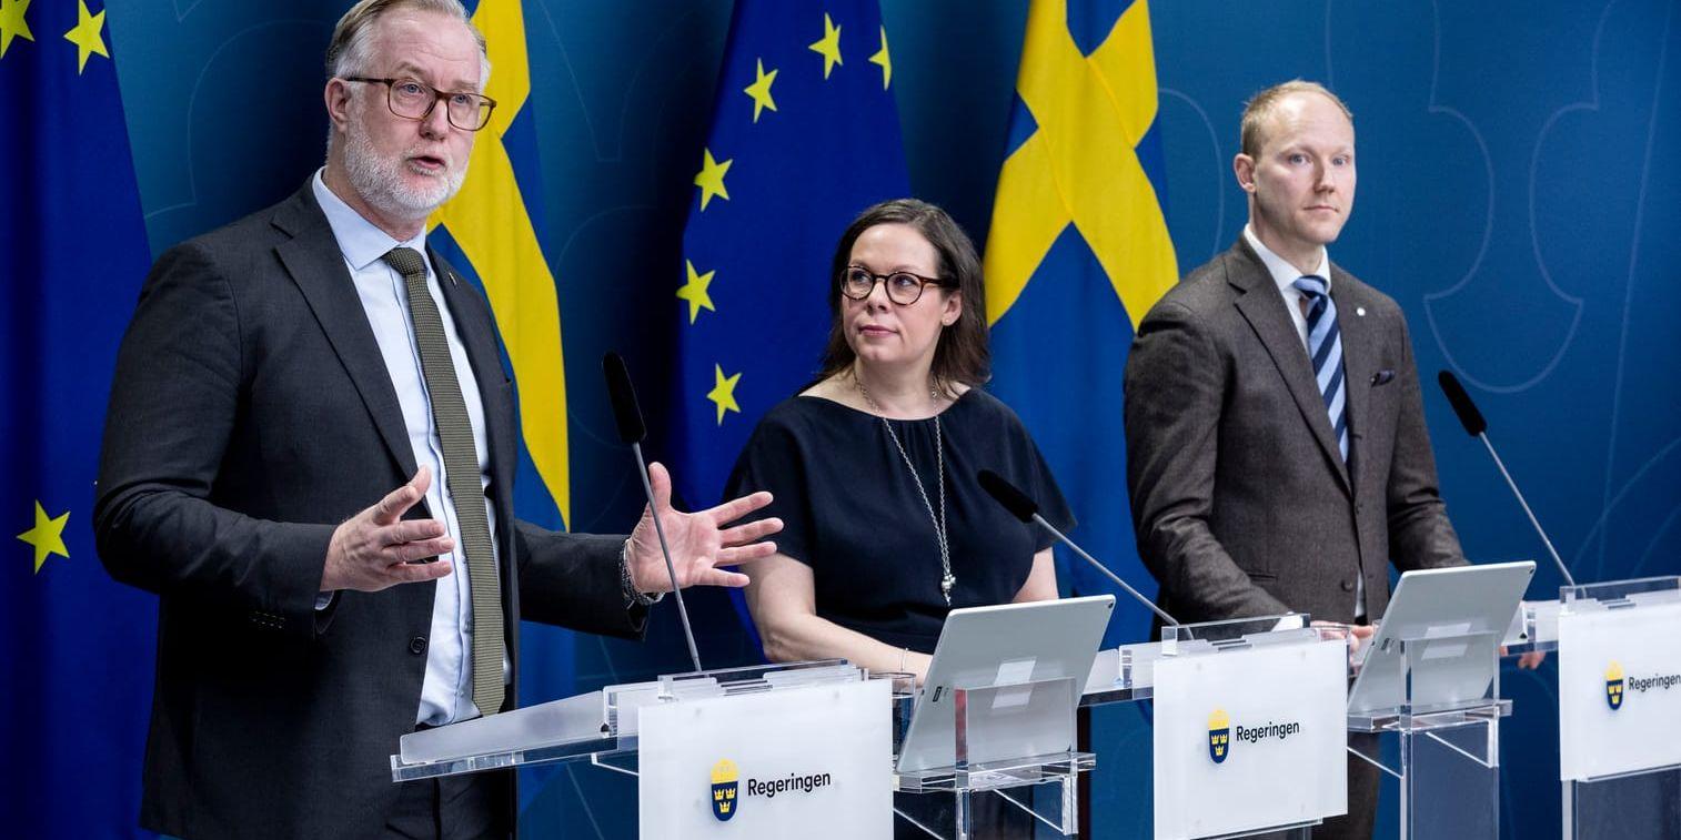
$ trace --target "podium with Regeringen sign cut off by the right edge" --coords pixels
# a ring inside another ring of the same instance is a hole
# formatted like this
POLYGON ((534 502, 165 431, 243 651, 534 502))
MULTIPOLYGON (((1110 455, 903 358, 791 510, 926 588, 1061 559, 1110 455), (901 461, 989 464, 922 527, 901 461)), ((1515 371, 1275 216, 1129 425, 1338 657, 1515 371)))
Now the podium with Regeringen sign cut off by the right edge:
POLYGON ((1565 586, 1555 620, 1562 835, 1681 838, 1681 576, 1565 586))

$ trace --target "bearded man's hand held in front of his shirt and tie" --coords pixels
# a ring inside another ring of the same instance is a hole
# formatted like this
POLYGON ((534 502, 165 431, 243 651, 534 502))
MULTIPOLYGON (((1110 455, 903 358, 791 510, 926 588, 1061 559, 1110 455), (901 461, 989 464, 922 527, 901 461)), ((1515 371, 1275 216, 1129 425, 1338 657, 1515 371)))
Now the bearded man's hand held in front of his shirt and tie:
POLYGON ((444 522, 403 519, 403 512, 425 499, 432 472, 420 467, 408 484, 397 487, 333 529, 326 546, 321 591, 380 591, 398 583, 437 580, 451 573, 447 556, 456 549, 444 522), (437 563, 412 563, 437 556, 437 563))

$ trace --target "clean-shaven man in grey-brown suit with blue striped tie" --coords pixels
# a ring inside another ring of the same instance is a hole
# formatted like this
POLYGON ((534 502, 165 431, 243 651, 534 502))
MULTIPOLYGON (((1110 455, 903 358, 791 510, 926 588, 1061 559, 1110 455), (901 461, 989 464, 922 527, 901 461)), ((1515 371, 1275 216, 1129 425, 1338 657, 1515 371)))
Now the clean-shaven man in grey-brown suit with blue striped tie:
MULTIPOLYGON (((1303 612, 1370 625, 1390 563, 1464 554, 1407 321, 1326 254, 1353 210, 1353 118, 1318 84, 1262 91, 1232 170, 1249 225, 1150 309, 1126 363, 1138 551, 1182 622, 1303 612)), ((1370 837, 1377 781, 1350 758, 1350 815, 1316 835, 1370 837)))

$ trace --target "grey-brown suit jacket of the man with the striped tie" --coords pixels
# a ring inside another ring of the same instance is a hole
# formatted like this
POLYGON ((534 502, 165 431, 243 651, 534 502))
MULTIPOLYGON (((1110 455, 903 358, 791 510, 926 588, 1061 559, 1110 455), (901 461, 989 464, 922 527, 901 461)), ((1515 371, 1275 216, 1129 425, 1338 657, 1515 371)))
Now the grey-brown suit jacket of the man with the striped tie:
POLYGON ((1168 291, 1126 361, 1138 551, 1180 622, 1367 617, 1400 570, 1464 563, 1395 301, 1331 265, 1348 464, 1284 299, 1244 239, 1168 291), (1363 316, 1360 312, 1365 312, 1363 316))

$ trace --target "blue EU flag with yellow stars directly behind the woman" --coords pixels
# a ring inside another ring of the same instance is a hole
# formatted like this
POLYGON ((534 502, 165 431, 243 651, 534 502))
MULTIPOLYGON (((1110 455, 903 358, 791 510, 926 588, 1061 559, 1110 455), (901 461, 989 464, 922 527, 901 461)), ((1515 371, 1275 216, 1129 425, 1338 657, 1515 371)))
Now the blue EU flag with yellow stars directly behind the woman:
POLYGON ((740 0, 696 163, 671 452, 698 507, 719 499, 758 418, 817 373, 847 223, 909 193, 876 0, 740 0))

